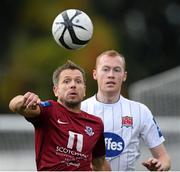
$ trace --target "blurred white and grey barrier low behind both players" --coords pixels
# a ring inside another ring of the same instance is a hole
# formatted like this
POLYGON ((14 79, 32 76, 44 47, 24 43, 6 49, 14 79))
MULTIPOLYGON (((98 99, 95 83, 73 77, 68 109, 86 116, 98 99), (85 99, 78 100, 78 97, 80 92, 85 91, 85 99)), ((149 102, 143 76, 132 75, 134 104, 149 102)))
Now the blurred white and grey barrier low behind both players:
MULTIPOLYGON (((166 147, 172 159, 172 170, 180 170, 180 118, 157 117, 166 137, 166 147)), ((142 156, 136 170, 146 170, 141 161, 149 157, 142 145, 142 156)), ((35 171, 34 129, 22 116, 0 115, 0 171, 35 171)))

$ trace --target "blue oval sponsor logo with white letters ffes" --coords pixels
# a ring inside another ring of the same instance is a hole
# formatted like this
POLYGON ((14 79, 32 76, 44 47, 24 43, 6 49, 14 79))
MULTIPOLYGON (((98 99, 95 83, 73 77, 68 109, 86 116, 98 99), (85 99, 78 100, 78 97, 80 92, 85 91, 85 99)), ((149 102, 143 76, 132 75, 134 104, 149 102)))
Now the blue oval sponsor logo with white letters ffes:
POLYGON ((117 134, 105 132, 106 158, 118 156, 124 150, 124 140, 117 134))

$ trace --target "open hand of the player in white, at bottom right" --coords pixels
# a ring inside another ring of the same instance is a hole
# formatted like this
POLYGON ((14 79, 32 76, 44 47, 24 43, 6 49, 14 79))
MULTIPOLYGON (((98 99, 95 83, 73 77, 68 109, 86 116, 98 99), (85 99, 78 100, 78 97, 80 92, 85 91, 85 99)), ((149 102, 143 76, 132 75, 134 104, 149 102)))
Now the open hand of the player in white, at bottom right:
POLYGON ((149 158, 147 161, 142 162, 142 165, 150 171, 164 171, 161 161, 156 158, 149 158))

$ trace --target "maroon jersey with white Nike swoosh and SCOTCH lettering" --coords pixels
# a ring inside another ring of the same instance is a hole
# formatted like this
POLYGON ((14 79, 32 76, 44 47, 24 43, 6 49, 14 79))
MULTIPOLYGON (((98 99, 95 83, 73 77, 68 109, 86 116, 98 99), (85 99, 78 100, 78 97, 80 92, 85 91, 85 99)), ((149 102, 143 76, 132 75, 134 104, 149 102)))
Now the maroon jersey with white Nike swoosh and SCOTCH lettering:
POLYGON ((92 158, 105 155, 100 118, 68 111, 58 102, 41 102, 41 114, 27 118, 35 127, 37 170, 92 170, 92 158))

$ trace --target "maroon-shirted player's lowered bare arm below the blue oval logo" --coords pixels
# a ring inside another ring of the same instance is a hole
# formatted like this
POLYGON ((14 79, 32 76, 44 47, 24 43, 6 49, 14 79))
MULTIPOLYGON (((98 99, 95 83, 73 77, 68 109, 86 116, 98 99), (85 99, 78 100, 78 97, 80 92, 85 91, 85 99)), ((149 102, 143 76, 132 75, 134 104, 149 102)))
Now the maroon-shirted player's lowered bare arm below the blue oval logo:
POLYGON ((111 171, 110 164, 106 161, 105 156, 94 158, 92 166, 94 171, 111 171))

